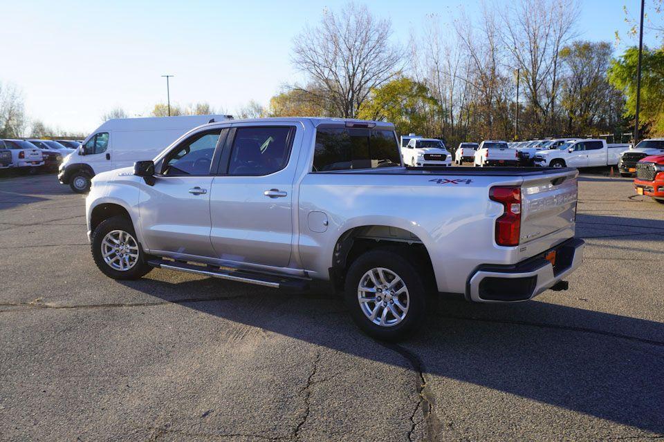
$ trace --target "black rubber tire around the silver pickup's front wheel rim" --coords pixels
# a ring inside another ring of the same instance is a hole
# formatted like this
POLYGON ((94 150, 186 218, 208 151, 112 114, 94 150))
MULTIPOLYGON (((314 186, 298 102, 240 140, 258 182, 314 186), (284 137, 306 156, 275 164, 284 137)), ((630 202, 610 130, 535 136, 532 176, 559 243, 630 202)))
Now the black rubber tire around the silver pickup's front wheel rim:
POLYGON ((142 247, 140 247, 140 244, 138 244, 138 240, 136 240, 136 244, 138 245, 138 260, 136 260, 136 264, 134 264, 131 269, 124 271, 116 270, 104 261, 104 258, 102 257, 102 240, 104 240, 107 233, 114 230, 125 231, 133 236, 133 238, 136 238, 136 231, 133 229, 131 220, 128 220, 124 216, 114 216, 113 218, 100 222, 92 234, 91 247, 95 264, 102 273, 109 278, 123 280, 142 278, 142 276, 145 276, 152 270, 152 267, 147 264, 147 256, 145 256, 145 252, 142 247))

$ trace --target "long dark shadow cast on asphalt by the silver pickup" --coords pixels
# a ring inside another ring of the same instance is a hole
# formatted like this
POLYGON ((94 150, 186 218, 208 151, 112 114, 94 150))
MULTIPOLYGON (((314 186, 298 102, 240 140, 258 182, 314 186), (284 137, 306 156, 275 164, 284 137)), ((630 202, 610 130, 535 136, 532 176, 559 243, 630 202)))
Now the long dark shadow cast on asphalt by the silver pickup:
MULTIPOLYGON (((477 305, 452 298, 441 300, 422 332, 391 345, 362 334, 342 299, 324 289, 295 294, 219 280, 122 283, 223 320, 402 367, 427 383, 432 376, 445 385, 472 383, 504 393, 506 404, 515 395, 664 432, 662 323, 538 300, 477 305)), ((454 396, 463 392, 450 392, 445 403, 454 396)))

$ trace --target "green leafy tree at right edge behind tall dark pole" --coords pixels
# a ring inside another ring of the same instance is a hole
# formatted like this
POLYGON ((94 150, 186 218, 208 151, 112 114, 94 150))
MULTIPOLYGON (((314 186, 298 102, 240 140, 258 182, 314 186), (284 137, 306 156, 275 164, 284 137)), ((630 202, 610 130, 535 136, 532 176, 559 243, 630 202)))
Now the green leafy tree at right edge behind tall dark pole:
MULTIPOLYGON (((632 47, 612 60, 609 68, 609 82, 627 96, 625 117, 629 118, 636 114, 637 64, 638 48, 632 47)), ((664 48, 643 48, 639 119, 650 126, 650 135, 664 134, 664 48)))

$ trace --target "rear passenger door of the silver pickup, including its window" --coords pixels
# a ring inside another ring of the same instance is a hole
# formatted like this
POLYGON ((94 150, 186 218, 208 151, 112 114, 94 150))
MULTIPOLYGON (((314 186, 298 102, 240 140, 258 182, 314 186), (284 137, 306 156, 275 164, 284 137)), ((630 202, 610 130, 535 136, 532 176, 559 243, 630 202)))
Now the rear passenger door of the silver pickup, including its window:
POLYGON ((238 126, 228 135, 212 180, 210 238, 216 257, 287 267, 293 242, 295 126, 238 126))

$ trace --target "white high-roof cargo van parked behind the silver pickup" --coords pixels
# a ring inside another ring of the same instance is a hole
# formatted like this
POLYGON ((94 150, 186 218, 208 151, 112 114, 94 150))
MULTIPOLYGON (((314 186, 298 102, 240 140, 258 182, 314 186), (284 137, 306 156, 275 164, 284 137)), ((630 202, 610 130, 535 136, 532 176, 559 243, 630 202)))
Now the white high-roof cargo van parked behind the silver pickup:
POLYGON ((77 193, 90 189, 98 173, 152 160, 192 128, 232 118, 230 115, 185 115, 109 119, 65 157, 57 178, 77 193))

